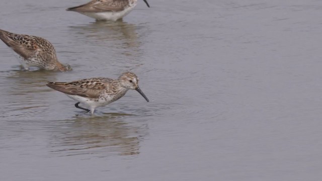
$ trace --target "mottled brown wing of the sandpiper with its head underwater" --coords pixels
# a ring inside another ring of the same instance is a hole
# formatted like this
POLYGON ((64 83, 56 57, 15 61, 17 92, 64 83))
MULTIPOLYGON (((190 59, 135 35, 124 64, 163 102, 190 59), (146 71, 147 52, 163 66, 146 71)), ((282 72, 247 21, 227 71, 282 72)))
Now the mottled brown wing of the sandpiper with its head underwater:
POLYGON ((0 30, 0 39, 26 59, 41 52, 33 36, 19 35, 0 30))

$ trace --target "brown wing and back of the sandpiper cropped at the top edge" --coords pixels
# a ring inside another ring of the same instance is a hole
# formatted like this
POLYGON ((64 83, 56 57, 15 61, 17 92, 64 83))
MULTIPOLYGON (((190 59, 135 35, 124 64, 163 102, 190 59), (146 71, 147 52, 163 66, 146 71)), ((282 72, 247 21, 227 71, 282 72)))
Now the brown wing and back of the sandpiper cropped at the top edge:
POLYGON ((99 13, 99 12, 118 12, 123 11, 128 5, 128 1, 92 1, 85 5, 68 8, 67 11, 83 12, 83 13, 99 13))

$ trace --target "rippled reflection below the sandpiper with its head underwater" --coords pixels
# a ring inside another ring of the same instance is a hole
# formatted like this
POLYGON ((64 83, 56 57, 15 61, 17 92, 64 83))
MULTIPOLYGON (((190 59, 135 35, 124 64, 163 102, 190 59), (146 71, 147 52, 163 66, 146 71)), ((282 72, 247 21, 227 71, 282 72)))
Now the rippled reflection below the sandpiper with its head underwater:
POLYGON ((47 109, 46 94, 51 91, 47 81, 52 81, 57 76, 54 71, 8 71, 7 76, 1 77, 0 86, 2 93, 3 109, 0 112, 4 118, 27 119, 41 114, 47 109), (5 106, 6 105, 6 106, 5 106))

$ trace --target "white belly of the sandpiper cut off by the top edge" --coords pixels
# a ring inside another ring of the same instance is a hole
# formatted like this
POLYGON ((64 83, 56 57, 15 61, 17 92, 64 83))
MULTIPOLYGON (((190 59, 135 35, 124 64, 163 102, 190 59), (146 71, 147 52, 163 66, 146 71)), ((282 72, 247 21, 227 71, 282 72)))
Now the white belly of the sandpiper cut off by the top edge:
POLYGON ((97 20, 112 20, 112 21, 116 21, 118 19, 123 18, 127 14, 129 14, 133 10, 134 7, 135 6, 128 7, 125 10, 119 11, 119 12, 99 12, 99 13, 86 13, 86 12, 82 13, 82 12, 79 12, 79 13, 82 13, 82 14, 84 14, 86 16, 91 17, 91 18, 95 18, 97 20))

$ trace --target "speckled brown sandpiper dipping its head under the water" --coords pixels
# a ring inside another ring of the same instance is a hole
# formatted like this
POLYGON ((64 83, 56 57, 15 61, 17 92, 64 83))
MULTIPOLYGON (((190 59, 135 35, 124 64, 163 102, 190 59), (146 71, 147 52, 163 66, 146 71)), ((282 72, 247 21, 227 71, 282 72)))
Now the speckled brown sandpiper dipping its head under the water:
POLYGON ((35 66, 45 70, 71 70, 57 60, 53 45, 44 38, 0 30, 0 39, 18 56, 25 70, 35 66))

